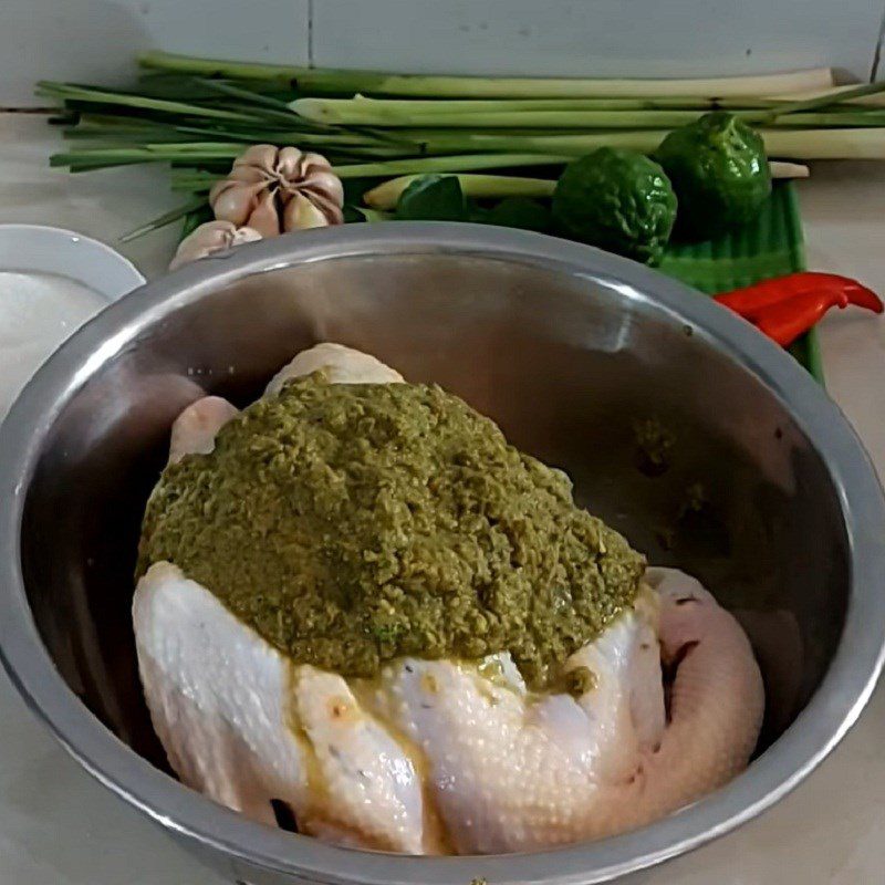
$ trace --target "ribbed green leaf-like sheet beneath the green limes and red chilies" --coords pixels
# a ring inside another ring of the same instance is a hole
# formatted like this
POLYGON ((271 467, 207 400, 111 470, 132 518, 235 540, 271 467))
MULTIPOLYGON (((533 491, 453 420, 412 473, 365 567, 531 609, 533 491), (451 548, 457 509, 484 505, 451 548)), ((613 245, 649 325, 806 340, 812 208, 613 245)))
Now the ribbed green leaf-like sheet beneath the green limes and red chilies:
MULTIPOLYGON (((805 270, 795 187, 791 181, 775 183, 759 218, 739 231, 708 242, 671 243, 659 269, 710 295, 805 270)), ((790 352, 823 384, 821 348, 814 330, 796 341, 790 352)))

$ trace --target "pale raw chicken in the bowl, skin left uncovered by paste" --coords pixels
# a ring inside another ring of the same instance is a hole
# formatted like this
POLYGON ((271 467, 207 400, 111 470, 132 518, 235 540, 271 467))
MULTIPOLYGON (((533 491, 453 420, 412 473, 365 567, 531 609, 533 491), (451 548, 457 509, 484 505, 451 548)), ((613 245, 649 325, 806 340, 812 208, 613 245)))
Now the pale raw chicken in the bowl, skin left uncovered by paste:
MULTIPOLYGON (((366 354, 321 344, 268 386, 326 368, 395 383, 366 354)), ((237 410, 206 397, 173 428, 170 460, 211 451, 237 410)), ((746 766, 762 680, 738 623, 697 581, 649 569, 633 611, 576 652, 582 697, 530 695, 508 654, 402 659, 378 679, 293 665, 169 563, 138 582, 136 647, 152 719, 181 780, 273 823, 409 854, 531 851, 641 826, 746 766), (675 669, 665 705, 662 660, 675 669), (668 716, 669 714, 669 716, 668 716)))

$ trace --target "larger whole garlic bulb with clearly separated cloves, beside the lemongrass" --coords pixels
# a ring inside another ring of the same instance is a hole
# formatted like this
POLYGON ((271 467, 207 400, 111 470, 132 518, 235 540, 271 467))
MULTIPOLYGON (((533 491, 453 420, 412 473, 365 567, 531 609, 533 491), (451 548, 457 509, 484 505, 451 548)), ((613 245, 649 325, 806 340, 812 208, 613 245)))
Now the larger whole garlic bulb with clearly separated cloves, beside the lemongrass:
POLYGON ((262 237, 341 225, 344 188, 325 157, 296 147, 254 145, 212 187, 215 217, 249 225, 262 237))

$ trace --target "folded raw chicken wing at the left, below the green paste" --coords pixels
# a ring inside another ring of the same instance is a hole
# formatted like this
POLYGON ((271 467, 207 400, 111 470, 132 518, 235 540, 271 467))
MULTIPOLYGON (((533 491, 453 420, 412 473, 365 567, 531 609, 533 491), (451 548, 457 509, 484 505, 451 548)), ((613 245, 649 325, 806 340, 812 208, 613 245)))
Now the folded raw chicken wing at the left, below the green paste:
POLYGON ((188 787, 266 823, 279 799, 308 832, 421 852, 415 769, 344 679, 292 666, 166 562, 133 617, 154 728, 188 787))

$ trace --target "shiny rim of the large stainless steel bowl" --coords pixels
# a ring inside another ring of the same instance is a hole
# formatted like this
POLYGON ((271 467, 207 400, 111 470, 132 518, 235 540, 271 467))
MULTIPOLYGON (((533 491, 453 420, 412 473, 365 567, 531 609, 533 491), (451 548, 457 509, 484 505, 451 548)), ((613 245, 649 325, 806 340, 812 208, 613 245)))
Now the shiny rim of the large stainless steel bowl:
POLYGON ((855 431, 784 351, 707 298, 654 270, 538 233, 459 222, 347 225, 238 247, 185 266, 81 327, 25 386, 0 428, 0 659, 31 710, 105 787, 174 835, 229 860, 344 885, 597 883, 653 866, 728 833, 795 788, 856 721, 885 658, 885 498, 855 431), (823 681, 792 726, 747 772, 639 830, 542 852, 415 857, 337 847, 266 826, 185 788, 107 730, 55 669, 31 616, 20 560, 21 517, 37 455, 61 406, 142 327, 244 275, 305 262, 393 254, 479 257, 600 281, 653 302, 739 361, 791 414, 824 458, 848 540, 843 634, 823 681), (866 587, 866 591, 864 591, 866 587))

